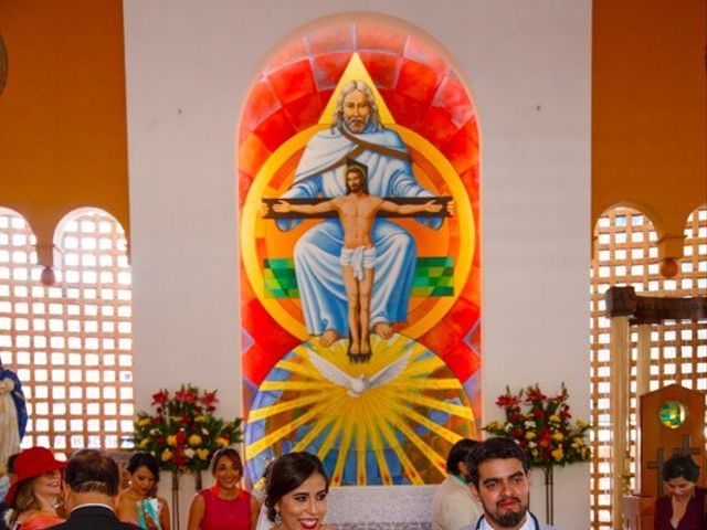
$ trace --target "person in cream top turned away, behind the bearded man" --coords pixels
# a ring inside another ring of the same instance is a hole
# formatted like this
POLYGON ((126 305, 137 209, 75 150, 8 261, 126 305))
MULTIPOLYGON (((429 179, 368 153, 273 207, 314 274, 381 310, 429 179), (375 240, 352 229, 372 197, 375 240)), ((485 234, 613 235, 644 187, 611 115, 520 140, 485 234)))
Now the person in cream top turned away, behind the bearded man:
POLYGON ((432 529, 458 530, 475 523, 484 512, 468 488, 466 459, 478 442, 462 438, 452 446, 446 458, 447 477, 432 498, 432 529))

